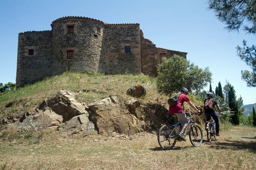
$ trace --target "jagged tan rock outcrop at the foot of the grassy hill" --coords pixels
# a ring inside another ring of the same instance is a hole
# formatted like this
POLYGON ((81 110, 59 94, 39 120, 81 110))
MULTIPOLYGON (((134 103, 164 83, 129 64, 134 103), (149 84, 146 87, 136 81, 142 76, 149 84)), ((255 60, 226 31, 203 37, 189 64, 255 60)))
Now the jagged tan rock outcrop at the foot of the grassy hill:
POLYGON ((162 105, 142 103, 136 99, 121 104, 114 95, 84 105, 76 101, 75 94, 63 90, 44 100, 35 112, 24 114, 14 125, 25 131, 51 127, 70 134, 131 135, 159 128, 166 121, 167 113, 162 105))

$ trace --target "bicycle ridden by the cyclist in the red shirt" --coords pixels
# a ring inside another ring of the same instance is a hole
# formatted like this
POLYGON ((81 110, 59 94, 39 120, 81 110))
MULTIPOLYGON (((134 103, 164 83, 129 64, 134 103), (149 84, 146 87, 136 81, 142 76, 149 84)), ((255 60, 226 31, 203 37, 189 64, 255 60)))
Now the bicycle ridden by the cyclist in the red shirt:
MULTIPOLYGON (((189 140, 194 147, 198 147, 203 142, 203 132, 202 132, 202 129, 200 128, 200 126, 198 124, 196 124, 195 121, 191 118, 192 115, 195 115, 197 113, 186 113, 186 114, 189 115, 189 118, 188 118, 188 125, 187 125, 184 135, 187 134, 188 128, 190 127, 189 140)), ((176 117, 176 115, 174 115, 174 114, 172 114, 172 116, 176 117)), ((176 119, 177 119, 177 117, 176 117, 176 119)), ((177 123, 174 125, 171 125, 171 124, 163 125, 159 129, 158 135, 157 135, 157 140, 158 140, 160 147, 163 150, 172 149, 175 146, 177 140, 182 141, 182 139, 177 135, 180 132, 181 132, 181 123, 179 122, 178 119, 177 119, 177 123)))

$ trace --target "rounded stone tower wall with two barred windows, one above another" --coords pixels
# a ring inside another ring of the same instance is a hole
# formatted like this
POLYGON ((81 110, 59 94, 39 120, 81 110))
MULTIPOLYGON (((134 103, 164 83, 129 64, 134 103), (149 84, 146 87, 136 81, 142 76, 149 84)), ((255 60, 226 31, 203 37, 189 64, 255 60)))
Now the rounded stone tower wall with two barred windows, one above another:
POLYGON ((64 18, 52 24, 54 74, 65 71, 97 73, 101 55, 104 24, 83 18, 64 18), (68 27, 74 33, 68 33, 68 27), (73 58, 67 58, 67 51, 73 58))

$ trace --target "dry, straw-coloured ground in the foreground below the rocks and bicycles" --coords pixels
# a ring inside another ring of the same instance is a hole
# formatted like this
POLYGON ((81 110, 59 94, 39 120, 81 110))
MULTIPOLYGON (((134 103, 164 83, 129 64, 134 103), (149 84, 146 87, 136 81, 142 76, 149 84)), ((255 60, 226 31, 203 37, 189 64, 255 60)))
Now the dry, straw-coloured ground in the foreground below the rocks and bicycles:
POLYGON ((83 138, 45 131, 38 142, 0 139, 0 169, 256 169, 256 129, 232 126, 200 147, 162 150, 156 132, 83 138))

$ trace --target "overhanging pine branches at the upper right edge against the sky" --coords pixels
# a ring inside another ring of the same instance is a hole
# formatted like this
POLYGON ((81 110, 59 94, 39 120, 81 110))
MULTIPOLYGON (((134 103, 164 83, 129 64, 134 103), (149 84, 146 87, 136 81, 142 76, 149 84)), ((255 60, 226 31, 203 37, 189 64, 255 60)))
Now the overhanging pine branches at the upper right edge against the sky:
MULTIPOLYGON (((246 33, 256 35, 255 0, 208 0, 208 9, 213 10, 217 19, 226 24, 225 29, 228 32, 239 32, 242 27, 246 33)), ((237 46, 237 53, 241 60, 253 70, 252 72, 241 71, 242 79, 247 82, 247 86, 256 87, 255 46, 248 47, 243 40, 243 47, 237 46)))

